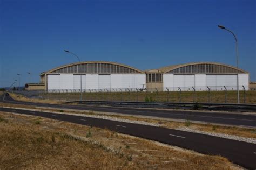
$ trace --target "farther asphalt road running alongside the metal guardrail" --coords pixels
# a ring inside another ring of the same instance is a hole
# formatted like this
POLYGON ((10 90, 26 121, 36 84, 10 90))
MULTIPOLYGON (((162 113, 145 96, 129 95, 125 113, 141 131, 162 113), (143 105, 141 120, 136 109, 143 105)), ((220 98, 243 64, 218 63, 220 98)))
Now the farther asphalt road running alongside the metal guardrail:
POLYGON ((36 105, 38 107, 54 107, 63 109, 91 110, 102 112, 113 112, 126 115, 142 115, 160 118, 183 119, 198 121, 199 123, 215 123, 235 126, 256 128, 256 114, 246 115, 239 112, 218 112, 218 111, 188 111, 188 110, 156 110, 125 107, 104 107, 100 105, 69 105, 69 104, 42 104, 32 102, 14 101, 10 96, 2 95, 0 102, 36 105))

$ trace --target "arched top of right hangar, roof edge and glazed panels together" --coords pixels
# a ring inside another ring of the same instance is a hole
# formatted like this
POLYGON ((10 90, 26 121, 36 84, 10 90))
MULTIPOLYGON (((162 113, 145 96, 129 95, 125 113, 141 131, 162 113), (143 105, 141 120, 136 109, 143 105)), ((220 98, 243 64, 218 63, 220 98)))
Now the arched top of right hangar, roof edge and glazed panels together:
MULTIPOLYGON (((234 74, 237 68, 218 62, 191 62, 180 65, 172 65, 159 68, 164 73, 180 73, 180 74, 234 74)), ((245 70, 238 69, 239 73, 248 73, 245 70)))

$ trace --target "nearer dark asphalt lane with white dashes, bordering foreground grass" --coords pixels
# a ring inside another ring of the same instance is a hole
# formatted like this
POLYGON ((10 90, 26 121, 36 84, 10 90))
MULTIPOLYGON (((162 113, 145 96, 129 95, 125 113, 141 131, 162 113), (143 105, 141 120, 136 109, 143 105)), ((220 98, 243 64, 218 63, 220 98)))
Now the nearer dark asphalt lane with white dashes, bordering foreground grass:
POLYGON ((53 114, 50 112, 19 110, 11 108, 0 108, 0 111, 41 116, 59 121, 95 126, 99 128, 107 128, 119 133, 151 139, 161 143, 187 148, 189 150, 194 150, 204 154, 221 155, 228 158, 235 164, 241 165, 243 167, 250 169, 256 168, 256 145, 251 143, 208 136, 199 133, 159 128, 148 125, 109 121, 98 118, 53 114))

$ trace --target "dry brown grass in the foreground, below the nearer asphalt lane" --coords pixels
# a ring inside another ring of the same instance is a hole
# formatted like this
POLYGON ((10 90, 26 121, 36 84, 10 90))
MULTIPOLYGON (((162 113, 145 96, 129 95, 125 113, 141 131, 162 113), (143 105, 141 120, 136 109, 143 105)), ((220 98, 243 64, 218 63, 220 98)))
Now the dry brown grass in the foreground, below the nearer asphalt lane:
POLYGON ((106 129, 15 114, 0 117, 0 169, 238 168, 223 157, 106 129))

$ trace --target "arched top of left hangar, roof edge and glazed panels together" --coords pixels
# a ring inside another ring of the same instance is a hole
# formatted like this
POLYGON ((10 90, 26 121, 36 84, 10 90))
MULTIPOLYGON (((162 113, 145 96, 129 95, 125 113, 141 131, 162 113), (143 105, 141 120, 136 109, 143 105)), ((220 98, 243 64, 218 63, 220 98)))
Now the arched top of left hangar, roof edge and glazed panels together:
POLYGON ((53 68, 44 74, 54 74, 54 73, 71 73, 71 74, 110 74, 110 73, 144 73, 142 70, 133 68, 127 65, 123 65, 116 62, 108 61, 83 61, 70 63, 68 65, 63 65, 60 67, 53 68))

